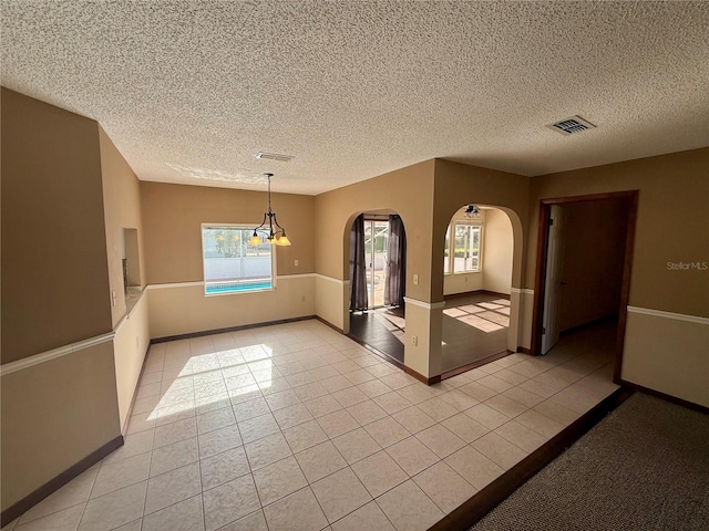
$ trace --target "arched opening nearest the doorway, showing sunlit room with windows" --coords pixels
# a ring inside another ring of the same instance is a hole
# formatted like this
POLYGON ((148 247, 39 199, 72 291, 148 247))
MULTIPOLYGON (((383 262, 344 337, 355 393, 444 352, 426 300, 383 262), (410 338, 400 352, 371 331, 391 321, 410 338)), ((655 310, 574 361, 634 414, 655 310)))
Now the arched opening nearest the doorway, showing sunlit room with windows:
POLYGON ((514 247, 512 221, 500 208, 466 204, 451 217, 443 253, 443 377, 516 346, 517 331, 511 327, 514 247))

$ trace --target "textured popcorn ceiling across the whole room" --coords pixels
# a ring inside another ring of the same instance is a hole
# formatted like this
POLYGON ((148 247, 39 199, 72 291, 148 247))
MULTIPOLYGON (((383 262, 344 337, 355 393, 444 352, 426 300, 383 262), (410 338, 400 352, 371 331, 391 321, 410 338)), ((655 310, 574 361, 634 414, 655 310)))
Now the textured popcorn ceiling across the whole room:
POLYGON ((2 84, 97 119, 142 180, 319 194, 433 157, 534 176, 709 145, 709 2, 1 10, 2 84), (576 114, 598 127, 545 127, 576 114))

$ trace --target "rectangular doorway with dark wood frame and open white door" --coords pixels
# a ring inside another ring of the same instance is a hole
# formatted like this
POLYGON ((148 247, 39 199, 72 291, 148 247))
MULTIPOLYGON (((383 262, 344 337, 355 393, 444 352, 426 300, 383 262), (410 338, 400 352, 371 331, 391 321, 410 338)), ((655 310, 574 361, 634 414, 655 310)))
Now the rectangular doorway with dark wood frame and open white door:
POLYGON ((532 354, 559 336, 613 321, 618 381, 627 317, 638 192, 542 200, 532 354))

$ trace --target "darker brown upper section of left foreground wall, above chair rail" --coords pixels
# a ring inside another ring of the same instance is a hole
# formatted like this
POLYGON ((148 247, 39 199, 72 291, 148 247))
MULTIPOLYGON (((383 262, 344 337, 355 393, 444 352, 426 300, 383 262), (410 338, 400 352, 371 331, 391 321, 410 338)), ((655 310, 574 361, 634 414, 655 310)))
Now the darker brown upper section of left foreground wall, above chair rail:
POLYGON ((99 125, 2 88, 2 363, 112 329, 99 125))

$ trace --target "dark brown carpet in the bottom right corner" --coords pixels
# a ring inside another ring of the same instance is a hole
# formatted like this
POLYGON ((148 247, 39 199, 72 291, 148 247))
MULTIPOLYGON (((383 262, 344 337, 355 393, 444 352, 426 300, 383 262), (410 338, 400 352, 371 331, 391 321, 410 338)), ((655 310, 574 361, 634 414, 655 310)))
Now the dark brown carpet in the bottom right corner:
POLYGON ((709 529, 709 416, 635 393, 471 531, 709 529))

